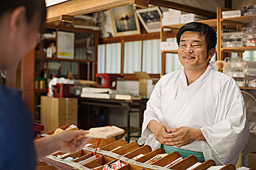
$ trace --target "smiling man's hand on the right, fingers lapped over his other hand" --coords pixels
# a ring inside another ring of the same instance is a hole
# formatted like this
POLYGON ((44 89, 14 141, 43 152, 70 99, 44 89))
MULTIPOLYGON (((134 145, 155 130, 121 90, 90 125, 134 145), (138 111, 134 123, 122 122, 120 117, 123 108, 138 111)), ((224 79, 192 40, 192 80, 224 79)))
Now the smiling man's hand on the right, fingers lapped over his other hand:
POLYGON ((192 143, 194 140, 206 141, 200 129, 192 127, 179 127, 171 129, 171 134, 166 134, 164 137, 165 145, 181 147, 192 143))

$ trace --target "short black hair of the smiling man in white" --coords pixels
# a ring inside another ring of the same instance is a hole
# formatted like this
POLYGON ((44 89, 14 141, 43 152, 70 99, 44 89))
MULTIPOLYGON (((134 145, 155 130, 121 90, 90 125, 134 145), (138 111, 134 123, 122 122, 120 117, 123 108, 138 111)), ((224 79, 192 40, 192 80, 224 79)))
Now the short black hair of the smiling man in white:
POLYGON ((217 44, 217 34, 210 25, 204 24, 202 22, 190 22, 183 25, 176 34, 176 41, 178 46, 180 45, 180 36, 186 31, 199 32, 200 35, 205 35, 205 41, 207 43, 207 56, 211 49, 215 50, 217 44))

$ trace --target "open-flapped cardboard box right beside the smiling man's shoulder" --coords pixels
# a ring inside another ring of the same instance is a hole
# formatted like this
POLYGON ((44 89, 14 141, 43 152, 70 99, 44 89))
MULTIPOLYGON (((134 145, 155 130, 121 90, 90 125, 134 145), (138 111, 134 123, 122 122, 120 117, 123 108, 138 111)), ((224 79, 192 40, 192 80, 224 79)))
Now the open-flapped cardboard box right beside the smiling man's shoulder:
POLYGON ((149 99, 158 80, 153 80, 147 72, 135 72, 135 75, 139 79, 139 92, 141 97, 143 99, 149 99))

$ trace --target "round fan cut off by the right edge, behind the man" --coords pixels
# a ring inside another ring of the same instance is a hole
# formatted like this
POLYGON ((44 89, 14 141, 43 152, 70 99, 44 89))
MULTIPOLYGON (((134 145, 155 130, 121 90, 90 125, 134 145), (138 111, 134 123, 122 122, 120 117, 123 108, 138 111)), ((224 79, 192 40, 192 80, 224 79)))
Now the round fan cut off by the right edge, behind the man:
POLYGON ((250 93, 241 91, 243 94, 246 114, 249 121, 249 129, 253 129, 256 125, 256 99, 250 93))

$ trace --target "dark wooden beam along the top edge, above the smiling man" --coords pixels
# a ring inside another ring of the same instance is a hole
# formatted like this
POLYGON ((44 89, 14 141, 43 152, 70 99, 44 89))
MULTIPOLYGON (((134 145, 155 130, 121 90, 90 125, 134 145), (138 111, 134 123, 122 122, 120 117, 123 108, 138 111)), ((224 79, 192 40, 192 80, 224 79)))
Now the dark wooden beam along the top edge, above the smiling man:
POLYGON ((212 17, 216 18, 216 13, 212 11, 206 11, 200 8, 195 8, 192 6, 187 6, 187 5, 182 5, 180 3, 175 3, 167 0, 149 0, 149 3, 152 5, 157 5, 157 6, 162 6, 166 8, 172 8, 180 11, 185 11, 193 14, 198 14, 201 16, 206 16, 206 17, 212 17))

